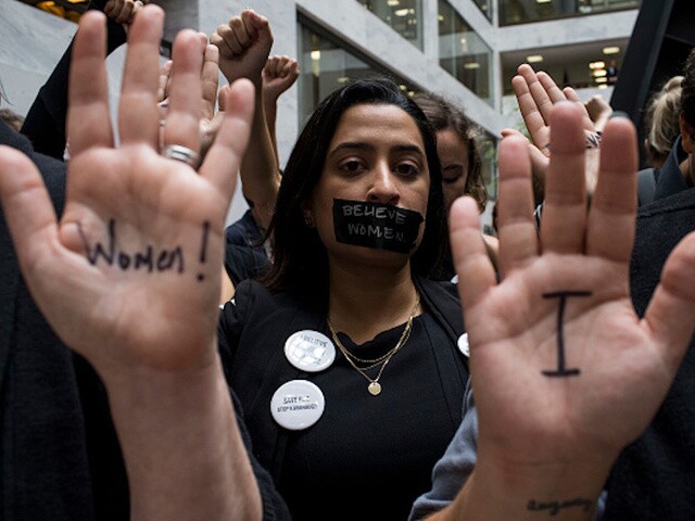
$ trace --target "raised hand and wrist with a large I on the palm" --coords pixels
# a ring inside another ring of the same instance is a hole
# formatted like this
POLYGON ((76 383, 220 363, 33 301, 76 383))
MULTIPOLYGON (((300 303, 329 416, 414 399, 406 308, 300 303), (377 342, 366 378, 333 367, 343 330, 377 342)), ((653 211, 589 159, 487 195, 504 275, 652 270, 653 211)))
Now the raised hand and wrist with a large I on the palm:
POLYGON ((591 206, 583 182, 584 114, 553 109, 540 238, 528 143, 500 148, 500 281, 471 199, 451 212, 473 397, 477 463, 432 519, 591 519, 619 452, 649 423, 695 325, 695 234, 672 253, 640 320, 629 293, 636 136, 611 119, 591 206), (462 519, 462 518, 456 518, 462 519))

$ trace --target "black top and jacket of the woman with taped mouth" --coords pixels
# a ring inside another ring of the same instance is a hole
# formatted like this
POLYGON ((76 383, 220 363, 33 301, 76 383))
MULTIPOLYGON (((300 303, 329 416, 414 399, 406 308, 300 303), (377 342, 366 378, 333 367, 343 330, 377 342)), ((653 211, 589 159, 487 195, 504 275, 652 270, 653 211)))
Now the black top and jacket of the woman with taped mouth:
MULTIPOLYGON (((339 351, 320 372, 286 358, 285 342, 296 331, 330 339, 325 302, 244 281, 225 306, 218 331, 225 372, 244 406, 255 454, 294 519, 407 519, 429 488, 432 467, 460 423, 468 370, 456 344, 464 327, 455 287, 415 282, 426 314, 387 366, 378 396, 339 351), (280 428, 270 411, 273 394, 294 379, 315 383, 326 398, 320 419, 301 431, 280 428)), ((339 338, 357 356, 376 358, 402 332, 403 326, 384 331, 361 346, 339 338)), ((378 367, 367 372, 375 378, 378 367)))

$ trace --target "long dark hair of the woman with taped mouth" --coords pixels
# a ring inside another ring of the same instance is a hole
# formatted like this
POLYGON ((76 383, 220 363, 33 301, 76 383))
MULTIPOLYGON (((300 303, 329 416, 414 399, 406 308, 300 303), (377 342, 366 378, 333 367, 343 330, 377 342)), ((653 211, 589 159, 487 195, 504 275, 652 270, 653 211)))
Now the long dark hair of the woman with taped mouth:
POLYGON ((358 104, 391 104, 416 123, 430 174, 430 192, 422 241, 410 257, 412 270, 428 276, 445 244, 445 215, 437 141, 417 104, 389 78, 355 80, 329 94, 314 111, 285 167, 268 234, 273 238, 273 266, 263 281, 276 291, 327 291, 328 257, 315 228, 304 223, 302 203, 312 196, 324 170, 328 147, 343 113, 358 104))

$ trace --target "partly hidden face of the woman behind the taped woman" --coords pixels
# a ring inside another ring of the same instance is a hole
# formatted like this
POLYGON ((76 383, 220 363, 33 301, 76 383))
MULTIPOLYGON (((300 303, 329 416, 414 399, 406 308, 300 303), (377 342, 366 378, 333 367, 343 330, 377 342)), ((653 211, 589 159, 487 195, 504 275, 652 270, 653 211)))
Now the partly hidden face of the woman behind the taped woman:
POLYGON ((442 164, 442 189, 446 215, 454 201, 465 193, 468 179, 468 145, 447 128, 437 132, 437 155, 442 164))

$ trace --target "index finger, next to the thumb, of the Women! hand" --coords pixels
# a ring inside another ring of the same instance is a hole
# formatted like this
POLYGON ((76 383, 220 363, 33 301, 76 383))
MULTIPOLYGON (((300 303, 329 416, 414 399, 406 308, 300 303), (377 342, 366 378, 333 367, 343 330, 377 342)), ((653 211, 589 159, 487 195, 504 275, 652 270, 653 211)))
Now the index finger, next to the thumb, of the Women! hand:
POLYGON ((88 11, 79 21, 70 71, 67 136, 71 154, 112 147, 105 65, 105 17, 88 11))

